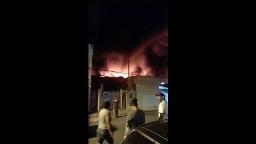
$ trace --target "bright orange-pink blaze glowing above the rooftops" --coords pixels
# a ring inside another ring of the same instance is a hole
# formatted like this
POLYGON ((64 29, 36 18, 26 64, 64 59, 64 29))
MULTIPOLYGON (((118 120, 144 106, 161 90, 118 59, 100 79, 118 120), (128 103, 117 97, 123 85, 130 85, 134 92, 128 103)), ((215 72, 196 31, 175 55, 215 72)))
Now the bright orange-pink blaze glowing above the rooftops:
MULTIPOLYGON (((107 52, 102 54, 102 58, 107 63, 107 69, 100 69, 99 74, 108 77, 129 77, 135 75, 141 76, 154 76, 151 73, 152 68, 147 63, 147 57, 145 55, 145 49, 151 45, 155 53, 159 55, 164 54, 167 58, 167 49, 163 50, 162 46, 168 46, 168 32, 164 29, 157 36, 149 37, 147 41, 137 47, 137 51, 134 51, 131 56, 125 57, 116 52, 107 52), (130 62, 129 62, 130 59, 130 62)), ((129 55, 129 54, 127 54, 129 55)), ((168 74, 167 67, 162 68, 168 74)))

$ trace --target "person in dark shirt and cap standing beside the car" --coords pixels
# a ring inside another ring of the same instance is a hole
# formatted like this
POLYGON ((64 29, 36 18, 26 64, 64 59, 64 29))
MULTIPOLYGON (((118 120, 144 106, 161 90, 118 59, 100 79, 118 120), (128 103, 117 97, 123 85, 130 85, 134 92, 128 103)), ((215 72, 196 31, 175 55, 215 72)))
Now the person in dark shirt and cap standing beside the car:
POLYGON ((145 114, 142 110, 138 108, 137 101, 137 99, 133 98, 130 102, 129 106, 132 107, 132 111, 127 114, 124 139, 127 137, 127 135, 129 135, 132 130, 145 123, 145 114))

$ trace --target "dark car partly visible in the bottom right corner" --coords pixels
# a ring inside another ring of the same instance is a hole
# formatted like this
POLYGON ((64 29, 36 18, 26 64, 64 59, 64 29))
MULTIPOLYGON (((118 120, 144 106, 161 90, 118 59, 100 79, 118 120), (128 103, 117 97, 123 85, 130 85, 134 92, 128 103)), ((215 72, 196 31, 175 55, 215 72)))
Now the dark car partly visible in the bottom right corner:
POLYGON ((138 126, 121 142, 128 143, 168 143, 168 119, 138 126))

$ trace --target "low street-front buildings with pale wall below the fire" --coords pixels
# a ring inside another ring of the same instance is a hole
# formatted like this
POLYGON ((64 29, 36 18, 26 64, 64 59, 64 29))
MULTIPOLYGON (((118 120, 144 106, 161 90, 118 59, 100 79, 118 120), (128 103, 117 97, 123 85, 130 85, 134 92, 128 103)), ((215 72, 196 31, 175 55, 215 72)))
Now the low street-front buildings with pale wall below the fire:
MULTIPOLYGON (((168 86, 161 85, 164 78, 149 76, 132 77, 100 77, 92 76, 90 111, 97 113, 103 101, 111 102, 115 95, 119 99, 120 109, 130 111, 130 101, 138 99, 138 106, 142 110, 157 110, 159 101, 156 94, 163 92, 168 97, 168 86)), ((166 99, 167 99, 166 97, 166 99)))

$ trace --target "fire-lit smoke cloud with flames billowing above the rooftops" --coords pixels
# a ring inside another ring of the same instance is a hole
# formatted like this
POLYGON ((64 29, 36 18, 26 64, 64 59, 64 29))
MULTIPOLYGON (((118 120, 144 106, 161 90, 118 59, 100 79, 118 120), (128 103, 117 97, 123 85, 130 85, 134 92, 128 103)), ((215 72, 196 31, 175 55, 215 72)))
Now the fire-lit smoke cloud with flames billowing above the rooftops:
MULTIPOLYGON (((168 33, 167 28, 148 37, 141 44, 125 49, 108 49, 93 57, 93 75, 119 76, 149 75, 156 77, 168 76, 168 33), (129 65, 130 59, 130 65, 129 65), (115 71, 107 73, 99 70, 115 71), (121 75, 122 74, 122 75, 121 75)), ((122 46, 125 47, 125 46, 122 46)))

